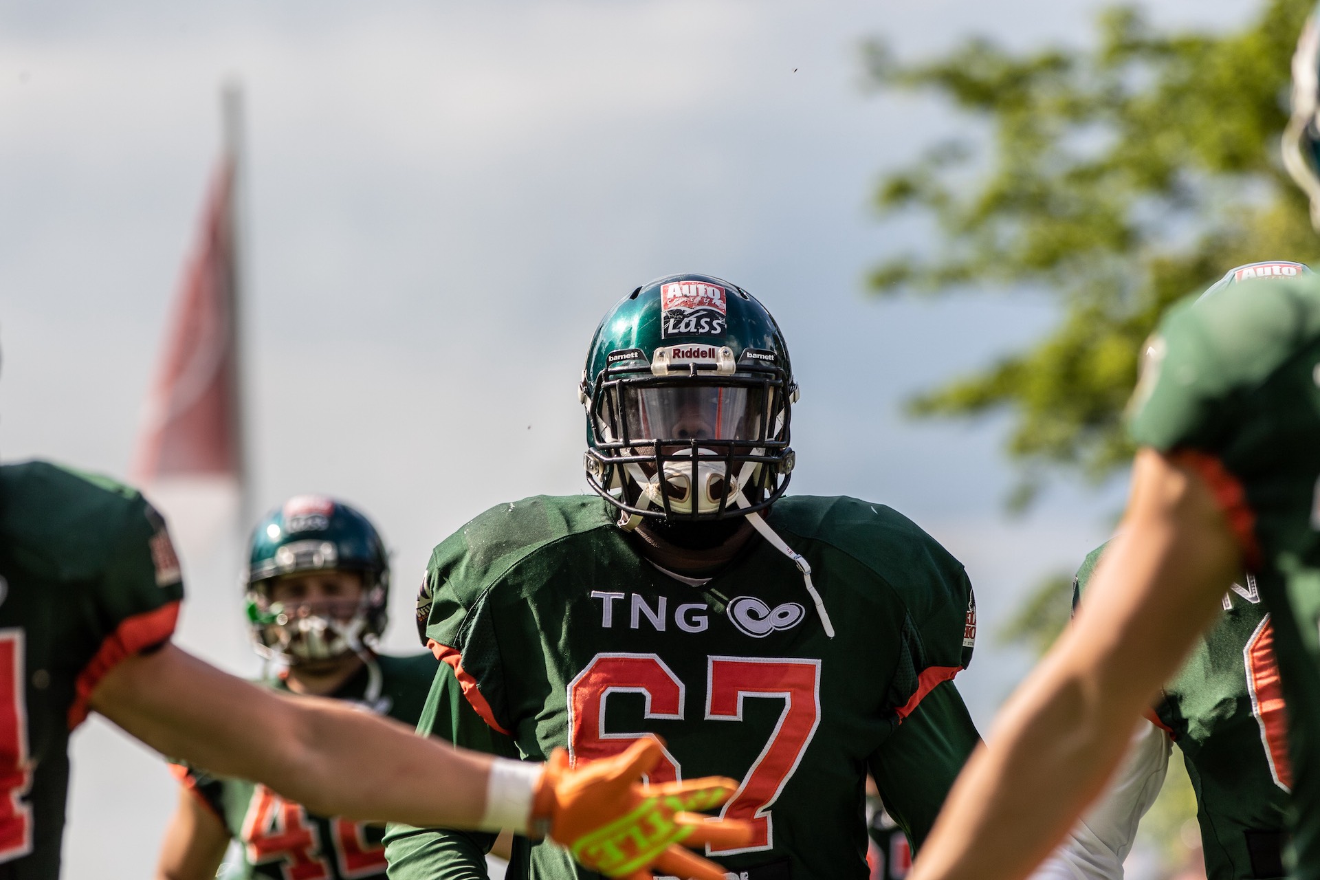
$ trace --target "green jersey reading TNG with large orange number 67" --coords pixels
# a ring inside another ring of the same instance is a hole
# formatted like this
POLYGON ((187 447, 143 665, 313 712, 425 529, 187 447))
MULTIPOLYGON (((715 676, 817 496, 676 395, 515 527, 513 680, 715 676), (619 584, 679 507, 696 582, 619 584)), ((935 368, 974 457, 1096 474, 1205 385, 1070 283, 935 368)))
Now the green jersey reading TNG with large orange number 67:
MULTIPOLYGON (((768 522, 809 561, 829 639, 797 569, 760 538, 693 586, 614 519, 595 496, 535 497, 436 549, 420 606, 444 666, 418 731, 537 760, 659 735, 653 781, 739 781, 723 815, 755 836, 708 852, 739 880, 865 879, 867 770, 919 844, 978 740, 950 681, 975 637, 962 566, 886 507, 781 499, 768 522)), ((486 873, 488 835, 385 839, 396 880, 486 873)), ((517 842, 510 865, 590 876, 548 843, 517 842)))

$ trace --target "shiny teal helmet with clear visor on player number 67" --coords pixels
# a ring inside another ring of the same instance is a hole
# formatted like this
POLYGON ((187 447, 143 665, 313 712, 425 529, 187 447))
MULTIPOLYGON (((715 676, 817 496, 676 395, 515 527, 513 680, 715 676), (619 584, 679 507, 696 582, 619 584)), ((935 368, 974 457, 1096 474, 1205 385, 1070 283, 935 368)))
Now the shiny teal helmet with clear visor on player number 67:
POLYGON ((793 470, 797 393, 784 336, 755 297, 705 274, 651 281, 591 338, 578 389, 587 483, 626 528, 763 511, 793 470))

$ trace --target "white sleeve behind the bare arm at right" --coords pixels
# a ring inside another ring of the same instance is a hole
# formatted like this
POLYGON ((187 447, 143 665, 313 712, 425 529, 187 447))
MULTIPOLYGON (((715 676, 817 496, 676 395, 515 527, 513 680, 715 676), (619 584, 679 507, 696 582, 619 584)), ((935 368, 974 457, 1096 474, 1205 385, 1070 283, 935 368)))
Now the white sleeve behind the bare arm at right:
POLYGON ((1121 880, 1137 826, 1164 785, 1171 748, 1164 731, 1143 722, 1118 774, 1031 880, 1121 880))

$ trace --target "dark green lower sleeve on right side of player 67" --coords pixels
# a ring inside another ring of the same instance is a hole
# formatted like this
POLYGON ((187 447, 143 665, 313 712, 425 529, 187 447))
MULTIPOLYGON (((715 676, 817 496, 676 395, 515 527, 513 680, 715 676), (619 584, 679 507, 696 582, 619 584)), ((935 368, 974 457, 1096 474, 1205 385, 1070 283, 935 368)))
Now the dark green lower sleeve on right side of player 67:
POLYGON ((870 757, 884 809, 920 848, 981 738, 953 682, 935 686, 870 757))

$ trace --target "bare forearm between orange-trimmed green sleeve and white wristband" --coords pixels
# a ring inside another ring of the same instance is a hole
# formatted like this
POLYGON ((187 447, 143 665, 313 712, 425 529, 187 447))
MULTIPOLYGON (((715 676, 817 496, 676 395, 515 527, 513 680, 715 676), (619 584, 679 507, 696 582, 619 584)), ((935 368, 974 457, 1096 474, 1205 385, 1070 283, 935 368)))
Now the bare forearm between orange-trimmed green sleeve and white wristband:
POLYGON ((255 687, 172 645, 116 666, 92 706, 164 755, 325 815, 473 827, 486 806, 488 756, 339 701, 255 687))

